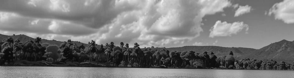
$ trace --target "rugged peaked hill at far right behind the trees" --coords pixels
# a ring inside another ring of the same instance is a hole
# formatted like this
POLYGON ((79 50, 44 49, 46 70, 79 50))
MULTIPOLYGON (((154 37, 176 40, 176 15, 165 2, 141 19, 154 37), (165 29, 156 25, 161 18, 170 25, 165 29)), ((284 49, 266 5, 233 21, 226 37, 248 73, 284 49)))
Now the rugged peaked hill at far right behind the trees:
POLYGON ((273 59, 275 61, 294 61, 294 41, 282 40, 256 50, 250 55, 256 59, 273 59))

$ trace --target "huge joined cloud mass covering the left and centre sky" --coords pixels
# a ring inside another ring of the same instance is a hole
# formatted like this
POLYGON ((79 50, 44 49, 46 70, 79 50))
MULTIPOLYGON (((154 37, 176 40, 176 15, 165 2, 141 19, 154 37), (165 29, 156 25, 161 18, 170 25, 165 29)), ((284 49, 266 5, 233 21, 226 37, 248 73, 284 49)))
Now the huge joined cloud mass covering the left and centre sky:
POLYGON ((1 0, 0 4, 1 12, 17 15, 1 15, 3 33, 156 47, 191 45, 203 31, 204 16, 231 6, 229 0, 1 0))

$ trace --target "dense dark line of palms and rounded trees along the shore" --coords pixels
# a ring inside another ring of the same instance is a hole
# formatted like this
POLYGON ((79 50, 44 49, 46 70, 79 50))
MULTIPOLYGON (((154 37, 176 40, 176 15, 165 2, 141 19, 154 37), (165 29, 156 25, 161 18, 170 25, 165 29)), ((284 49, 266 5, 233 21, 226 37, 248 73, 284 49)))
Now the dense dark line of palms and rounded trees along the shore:
POLYGON ((70 39, 58 45, 42 43, 41 38, 20 42, 18 39, 5 38, 0 42, 0 65, 15 60, 47 62, 92 62, 106 66, 119 67, 177 67, 177 68, 223 68, 223 69, 260 69, 294 70, 294 62, 274 60, 256 60, 244 58, 235 60, 232 51, 228 56, 217 57, 213 52, 196 53, 195 51, 169 51, 141 49, 138 43, 134 47, 121 42, 97 45, 95 41, 88 45, 76 45, 70 39))

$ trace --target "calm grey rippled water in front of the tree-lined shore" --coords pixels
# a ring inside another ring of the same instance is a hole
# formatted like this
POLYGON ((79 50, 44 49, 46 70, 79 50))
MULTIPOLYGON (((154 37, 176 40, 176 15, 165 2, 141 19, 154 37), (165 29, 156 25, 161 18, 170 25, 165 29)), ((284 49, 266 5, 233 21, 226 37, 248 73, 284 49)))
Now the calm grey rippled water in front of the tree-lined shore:
POLYGON ((0 66, 0 78, 294 78, 294 71, 0 66))

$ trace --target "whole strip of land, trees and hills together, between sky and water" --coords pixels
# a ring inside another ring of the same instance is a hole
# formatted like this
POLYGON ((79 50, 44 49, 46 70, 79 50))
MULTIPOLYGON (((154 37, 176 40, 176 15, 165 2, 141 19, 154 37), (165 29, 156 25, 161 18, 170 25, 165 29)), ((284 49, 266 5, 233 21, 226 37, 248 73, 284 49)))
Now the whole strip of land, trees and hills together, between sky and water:
MULTIPOLYGON (((6 36, 0 34, 1 66, 78 66, 78 67, 140 67, 140 68, 204 68, 204 69, 255 69, 294 70, 292 55, 294 41, 282 40, 261 49, 228 48, 219 46, 197 46, 196 50, 140 47, 121 42, 96 44, 89 41, 45 40, 25 35, 6 36), (280 47, 275 49, 275 47, 280 47), (210 48, 207 48, 210 47, 210 48), (274 48, 274 49, 273 49, 274 48), (217 49, 217 50, 215 50, 217 49), (273 59, 261 58, 268 51, 279 52, 273 59), (248 52, 244 52, 248 51, 248 52), (284 56, 283 55, 283 56, 284 56), (250 58, 250 57, 256 58, 250 58)), ((196 47, 196 46, 186 46, 196 47)))

